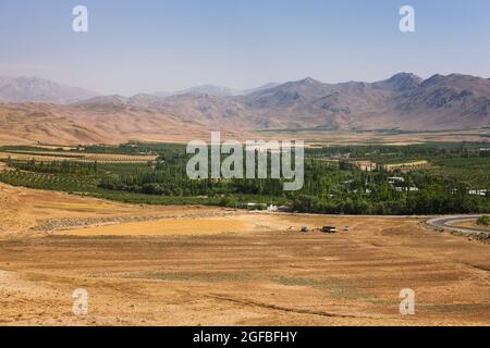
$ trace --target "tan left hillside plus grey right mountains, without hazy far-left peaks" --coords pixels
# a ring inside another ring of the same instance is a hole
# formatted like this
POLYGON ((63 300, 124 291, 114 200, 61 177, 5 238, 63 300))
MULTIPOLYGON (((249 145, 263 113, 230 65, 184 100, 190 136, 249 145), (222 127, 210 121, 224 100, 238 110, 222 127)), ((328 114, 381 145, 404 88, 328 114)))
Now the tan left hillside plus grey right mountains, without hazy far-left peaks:
MULTIPOLYGON (((490 126, 490 79, 460 74, 422 79, 400 73, 377 83, 342 84, 305 78, 240 96, 195 91, 95 96, 69 105, 9 103, 5 100, 22 97, 9 95, 5 99, 1 91, 0 141, 10 144, 168 141, 194 139, 209 135, 210 129, 243 134, 285 128, 446 130, 490 126)), ((33 85, 30 94, 42 95, 42 88, 33 85)))

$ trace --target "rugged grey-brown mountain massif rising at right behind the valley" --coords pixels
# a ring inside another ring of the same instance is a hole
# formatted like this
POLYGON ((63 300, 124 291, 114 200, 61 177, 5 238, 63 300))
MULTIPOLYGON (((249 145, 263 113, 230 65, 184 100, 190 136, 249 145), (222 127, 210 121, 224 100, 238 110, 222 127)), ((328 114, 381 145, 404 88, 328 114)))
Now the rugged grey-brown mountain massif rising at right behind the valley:
POLYGON ((452 74, 426 80, 401 73, 378 83, 328 85, 305 79, 243 98, 291 125, 343 129, 438 130, 490 125, 490 79, 452 74))

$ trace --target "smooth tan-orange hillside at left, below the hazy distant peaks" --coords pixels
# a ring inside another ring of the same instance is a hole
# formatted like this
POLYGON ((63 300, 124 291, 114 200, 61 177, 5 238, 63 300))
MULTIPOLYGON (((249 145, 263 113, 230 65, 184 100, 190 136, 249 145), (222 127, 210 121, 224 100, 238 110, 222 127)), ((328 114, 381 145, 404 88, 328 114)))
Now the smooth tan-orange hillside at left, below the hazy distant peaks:
POLYGON ((169 141, 194 139, 204 129, 196 122, 128 105, 0 104, 0 144, 169 141))

